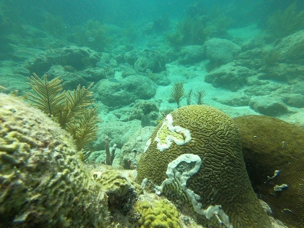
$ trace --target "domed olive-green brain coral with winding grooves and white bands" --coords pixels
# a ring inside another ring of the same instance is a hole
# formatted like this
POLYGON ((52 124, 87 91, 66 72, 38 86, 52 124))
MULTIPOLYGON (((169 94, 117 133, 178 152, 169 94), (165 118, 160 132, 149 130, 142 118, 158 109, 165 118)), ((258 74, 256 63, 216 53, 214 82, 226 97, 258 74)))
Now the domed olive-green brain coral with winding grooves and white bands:
MULTIPOLYGON (((207 105, 184 106, 167 115, 152 133, 139 159, 137 182, 148 178, 155 185, 162 185, 168 164, 183 154, 201 159, 201 166, 187 177, 190 178, 186 185, 191 190, 188 192, 199 196, 198 205, 201 203, 204 208, 221 205, 235 228, 271 227, 251 187, 241 154, 239 130, 231 118, 207 105)), ((174 170, 183 168, 187 166, 180 163, 174 170)))

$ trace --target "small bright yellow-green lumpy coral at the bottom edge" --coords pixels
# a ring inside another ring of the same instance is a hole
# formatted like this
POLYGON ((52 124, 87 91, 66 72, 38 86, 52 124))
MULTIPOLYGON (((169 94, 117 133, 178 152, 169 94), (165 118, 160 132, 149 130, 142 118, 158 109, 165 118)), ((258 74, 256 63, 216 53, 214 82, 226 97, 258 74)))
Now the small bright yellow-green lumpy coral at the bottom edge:
POLYGON ((167 200, 139 201, 134 209, 141 214, 140 228, 180 228, 178 211, 167 200))

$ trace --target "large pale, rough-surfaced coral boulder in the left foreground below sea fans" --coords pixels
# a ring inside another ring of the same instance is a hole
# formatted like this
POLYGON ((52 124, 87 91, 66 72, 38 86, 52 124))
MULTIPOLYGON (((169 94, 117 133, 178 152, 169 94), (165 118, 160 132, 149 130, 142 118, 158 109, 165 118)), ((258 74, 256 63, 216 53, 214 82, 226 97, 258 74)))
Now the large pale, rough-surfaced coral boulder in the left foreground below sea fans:
POLYGON ((79 156, 58 124, 0 94, 0 227, 106 227, 107 196, 79 156))

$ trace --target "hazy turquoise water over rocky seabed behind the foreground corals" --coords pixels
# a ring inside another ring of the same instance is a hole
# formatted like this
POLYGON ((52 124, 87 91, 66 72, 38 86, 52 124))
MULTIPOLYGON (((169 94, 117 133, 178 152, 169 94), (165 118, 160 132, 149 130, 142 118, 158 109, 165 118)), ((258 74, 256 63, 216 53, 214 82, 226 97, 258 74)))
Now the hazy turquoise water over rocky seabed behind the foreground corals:
POLYGON ((0 92, 26 100, 33 74, 94 83, 94 162, 189 104, 303 128, 304 1, 0 0, 0 92))

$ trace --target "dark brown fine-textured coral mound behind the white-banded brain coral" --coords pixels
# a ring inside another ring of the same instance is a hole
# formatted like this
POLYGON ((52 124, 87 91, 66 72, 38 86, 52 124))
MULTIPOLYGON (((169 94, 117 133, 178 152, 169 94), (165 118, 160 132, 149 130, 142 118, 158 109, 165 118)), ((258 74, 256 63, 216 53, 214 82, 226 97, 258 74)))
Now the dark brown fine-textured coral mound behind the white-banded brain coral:
POLYGON ((234 121, 241 133, 248 175, 262 200, 288 227, 303 227, 304 129, 267 116, 242 116, 234 121), (275 191, 275 186, 284 184, 288 187, 275 191))

